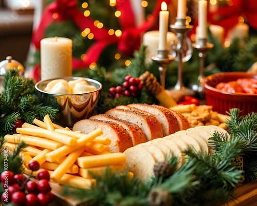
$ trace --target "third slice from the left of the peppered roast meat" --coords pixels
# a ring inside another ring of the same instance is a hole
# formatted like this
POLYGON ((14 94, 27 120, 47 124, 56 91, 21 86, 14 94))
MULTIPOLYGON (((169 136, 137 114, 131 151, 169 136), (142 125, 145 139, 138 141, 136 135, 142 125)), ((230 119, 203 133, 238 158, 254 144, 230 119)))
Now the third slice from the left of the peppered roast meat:
POLYGON ((160 122, 152 114, 146 114, 141 111, 116 108, 106 111, 105 114, 135 123, 141 128, 146 137, 146 140, 148 141, 163 137, 160 122))

